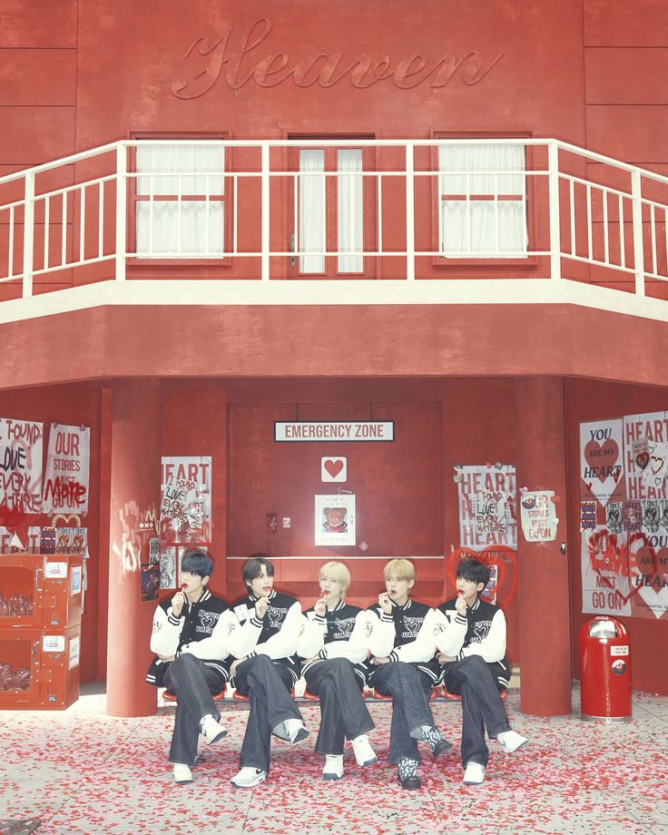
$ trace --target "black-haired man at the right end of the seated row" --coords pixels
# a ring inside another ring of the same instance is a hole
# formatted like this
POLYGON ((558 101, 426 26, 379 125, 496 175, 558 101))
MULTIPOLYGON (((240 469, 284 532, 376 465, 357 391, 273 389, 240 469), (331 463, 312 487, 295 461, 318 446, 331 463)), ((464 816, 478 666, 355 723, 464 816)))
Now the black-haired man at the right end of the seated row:
POLYGON ((479 560, 464 560, 457 568, 457 597, 436 611, 434 638, 443 665, 441 681, 449 693, 462 697, 461 756, 464 782, 485 780, 489 750, 485 730, 501 748, 515 752, 526 737, 512 730, 499 691, 508 685, 506 617, 495 604, 480 598, 489 582, 489 569, 479 560))

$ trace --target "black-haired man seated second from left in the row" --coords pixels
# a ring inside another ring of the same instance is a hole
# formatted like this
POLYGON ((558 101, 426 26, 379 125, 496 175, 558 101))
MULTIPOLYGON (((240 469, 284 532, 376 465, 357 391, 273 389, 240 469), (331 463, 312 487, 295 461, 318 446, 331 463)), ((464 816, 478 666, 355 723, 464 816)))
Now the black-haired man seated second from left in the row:
POLYGON ((231 783, 250 789, 267 779, 271 734, 296 745, 309 735, 301 713, 290 697, 300 677, 296 660, 301 631, 301 606, 274 587, 274 566, 266 554, 253 554, 241 578, 248 595, 233 604, 241 623, 235 635, 231 665, 234 686, 249 697, 251 712, 243 737, 240 771, 231 783))

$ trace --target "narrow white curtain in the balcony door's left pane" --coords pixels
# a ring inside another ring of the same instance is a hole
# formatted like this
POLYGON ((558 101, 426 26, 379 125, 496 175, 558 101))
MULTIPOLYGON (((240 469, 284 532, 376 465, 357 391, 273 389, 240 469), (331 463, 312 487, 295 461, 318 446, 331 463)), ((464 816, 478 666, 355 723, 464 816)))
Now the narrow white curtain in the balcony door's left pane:
MULTIPOLYGON (((300 151, 300 252, 325 251, 325 152, 300 151)), ((300 255, 300 272, 324 272, 325 258, 319 254, 300 255)))

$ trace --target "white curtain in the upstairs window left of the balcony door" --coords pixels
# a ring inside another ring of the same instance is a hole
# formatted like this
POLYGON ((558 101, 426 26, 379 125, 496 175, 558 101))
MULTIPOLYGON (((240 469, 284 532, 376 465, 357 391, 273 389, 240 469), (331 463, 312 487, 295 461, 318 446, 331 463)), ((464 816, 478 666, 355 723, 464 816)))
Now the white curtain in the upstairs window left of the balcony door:
POLYGON ((137 177, 137 194, 156 199, 136 201, 137 254, 221 254, 222 201, 182 199, 178 202, 160 197, 222 196, 223 171, 221 145, 138 146, 137 172, 154 176, 137 177), (202 173, 213 176, 201 176, 202 173))

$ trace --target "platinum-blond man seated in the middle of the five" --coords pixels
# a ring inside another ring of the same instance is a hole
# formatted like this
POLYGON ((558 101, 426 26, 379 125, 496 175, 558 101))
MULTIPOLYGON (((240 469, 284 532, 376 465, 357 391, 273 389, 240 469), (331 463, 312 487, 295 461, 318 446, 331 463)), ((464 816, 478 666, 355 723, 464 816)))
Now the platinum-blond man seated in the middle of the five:
POLYGON ((368 656, 367 616, 359 606, 346 603, 350 572, 346 565, 330 562, 319 571, 320 596, 304 613, 298 652, 305 658, 301 674, 309 693, 319 696, 320 730, 316 751, 325 755, 323 780, 343 777, 346 740, 359 766, 372 765, 378 757, 367 732, 375 725, 362 697, 368 656))

